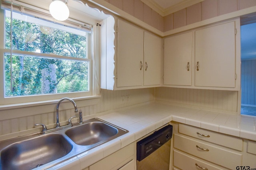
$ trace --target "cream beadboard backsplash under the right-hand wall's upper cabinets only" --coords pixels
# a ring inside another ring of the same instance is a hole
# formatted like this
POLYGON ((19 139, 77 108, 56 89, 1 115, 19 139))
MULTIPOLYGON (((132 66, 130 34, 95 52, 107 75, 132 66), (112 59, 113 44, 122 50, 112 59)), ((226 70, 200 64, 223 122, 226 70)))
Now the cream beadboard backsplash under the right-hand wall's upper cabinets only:
POLYGON ((237 91, 160 87, 156 88, 155 99, 180 106, 238 114, 237 91))

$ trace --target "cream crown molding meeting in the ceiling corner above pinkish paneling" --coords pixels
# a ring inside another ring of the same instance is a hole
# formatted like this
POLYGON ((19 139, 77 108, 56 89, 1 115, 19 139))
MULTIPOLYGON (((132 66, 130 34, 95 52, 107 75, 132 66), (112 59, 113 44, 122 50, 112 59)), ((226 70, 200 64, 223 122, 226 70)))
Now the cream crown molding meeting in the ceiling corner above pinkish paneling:
POLYGON ((142 1, 144 4, 149 6, 152 10, 156 11, 158 14, 164 17, 174 12, 177 12, 179 10, 182 10, 184 8, 187 8, 189 6, 192 6, 194 4, 197 4, 199 2, 202 2, 204 0, 183 0, 182 2, 175 4, 173 6, 170 6, 168 8, 162 8, 154 0, 140 0, 140 1, 142 1))

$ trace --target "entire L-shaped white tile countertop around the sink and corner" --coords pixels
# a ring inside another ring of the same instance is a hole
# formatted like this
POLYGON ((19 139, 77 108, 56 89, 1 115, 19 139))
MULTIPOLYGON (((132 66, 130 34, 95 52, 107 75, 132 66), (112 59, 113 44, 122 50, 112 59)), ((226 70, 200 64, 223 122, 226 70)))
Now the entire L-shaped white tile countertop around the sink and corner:
MULTIPOLYGON (((66 163, 70 166, 72 162, 80 160, 80 169, 86 168, 170 121, 256 141, 256 117, 174 106, 160 102, 126 107, 96 117, 126 129, 129 133, 88 150, 73 158, 72 161, 68 160, 66 163)), ((62 165, 66 163, 62 162, 62 165)), ((61 164, 50 169, 57 168, 61 169, 61 164)))

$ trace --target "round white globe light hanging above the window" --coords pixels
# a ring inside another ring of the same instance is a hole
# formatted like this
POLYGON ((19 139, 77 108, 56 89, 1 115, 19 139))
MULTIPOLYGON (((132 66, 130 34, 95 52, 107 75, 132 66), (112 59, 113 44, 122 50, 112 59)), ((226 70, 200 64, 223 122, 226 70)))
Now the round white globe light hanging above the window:
POLYGON ((69 9, 65 2, 54 0, 49 6, 50 14, 53 18, 59 21, 64 21, 69 17, 69 9))

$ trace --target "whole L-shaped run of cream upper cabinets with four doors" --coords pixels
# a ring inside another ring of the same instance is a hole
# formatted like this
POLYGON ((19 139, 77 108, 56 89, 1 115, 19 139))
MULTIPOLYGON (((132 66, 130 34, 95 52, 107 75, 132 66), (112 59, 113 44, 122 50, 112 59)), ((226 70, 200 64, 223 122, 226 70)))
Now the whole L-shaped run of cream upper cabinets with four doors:
MULTIPOLYGON (((114 29, 107 25, 105 32, 112 34, 114 29)), ((107 54, 101 57, 101 88, 104 89, 165 86, 240 90, 239 19, 164 39, 118 19, 115 39, 107 38, 101 49, 107 54)))

